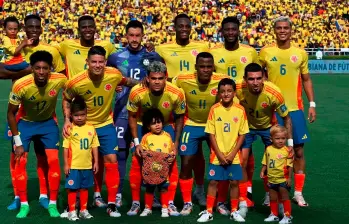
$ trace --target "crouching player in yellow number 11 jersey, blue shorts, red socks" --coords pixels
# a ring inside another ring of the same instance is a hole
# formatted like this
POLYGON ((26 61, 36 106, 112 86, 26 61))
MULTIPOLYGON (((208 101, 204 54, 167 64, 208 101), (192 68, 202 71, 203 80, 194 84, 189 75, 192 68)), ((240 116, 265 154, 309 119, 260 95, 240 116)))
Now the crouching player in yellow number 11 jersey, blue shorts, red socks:
MULTIPOLYGON (((202 149, 199 145, 204 140, 207 142, 209 140, 204 129, 210 108, 217 102, 218 82, 223 78, 228 78, 228 76, 213 72, 214 60, 208 52, 198 54, 195 68, 196 73, 181 74, 175 80, 175 84, 182 88, 185 93, 188 116, 180 138, 179 148, 182 161, 179 184, 184 201, 182 215, 189 215, 192 212, 192 171, 198 165, 195 163, 197 156, 201 157, 202 155, 202 149)), ((200 194, 204 194, 204 190, 200 194)), ((206 199, 204 202, 206 204, 206 199)), ((200 205, 203 206, 203 203, 200 205)))

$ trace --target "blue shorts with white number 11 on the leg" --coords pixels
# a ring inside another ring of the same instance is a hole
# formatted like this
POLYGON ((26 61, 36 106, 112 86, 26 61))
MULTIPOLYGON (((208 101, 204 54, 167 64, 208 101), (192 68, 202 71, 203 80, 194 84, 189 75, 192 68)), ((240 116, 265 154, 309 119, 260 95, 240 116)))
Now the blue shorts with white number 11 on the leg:
POLYGON ((199 143, 206 141, 209 145, 205 127, 185 125, 179 142, 179 155, 191 156, 198 152, 199 143))

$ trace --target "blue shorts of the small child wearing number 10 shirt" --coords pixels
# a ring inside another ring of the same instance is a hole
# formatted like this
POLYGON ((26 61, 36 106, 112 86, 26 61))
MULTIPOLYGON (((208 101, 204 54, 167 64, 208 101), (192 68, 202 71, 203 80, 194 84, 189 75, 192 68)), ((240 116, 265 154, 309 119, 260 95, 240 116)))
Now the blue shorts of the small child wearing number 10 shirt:
POLYGON ((75 170, 71 169, 65 179, 66 189, 84 189, 93 187, 93 172, 91 170, 75 170))

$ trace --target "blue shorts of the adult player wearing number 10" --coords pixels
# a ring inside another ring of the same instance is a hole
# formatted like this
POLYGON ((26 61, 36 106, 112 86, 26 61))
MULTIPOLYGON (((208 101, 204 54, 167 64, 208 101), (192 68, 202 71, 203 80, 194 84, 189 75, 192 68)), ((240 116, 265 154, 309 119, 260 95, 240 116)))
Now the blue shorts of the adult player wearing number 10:
POLYGON ((98 151, 102 156, 117 154, 118 139, 116 138, 116 130, 113 124, 108 124, 104 127, 96 128, 96 133, 99 140, 98 151))

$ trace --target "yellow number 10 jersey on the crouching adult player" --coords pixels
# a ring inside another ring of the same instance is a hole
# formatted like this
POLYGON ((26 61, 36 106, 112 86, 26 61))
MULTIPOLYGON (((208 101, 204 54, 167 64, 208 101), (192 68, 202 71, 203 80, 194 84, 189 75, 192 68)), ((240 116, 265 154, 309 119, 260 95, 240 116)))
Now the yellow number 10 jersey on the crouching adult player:
POLYGON ((67 82, 64 97, 72 100, 81 96, 87 105, 87 121, 95 128, 113 123, 112 105, 117 85, 126 79, 115 68, 106 67, 104 76, 99 83, 94 83, 88 70, 82 71, 67 82))

